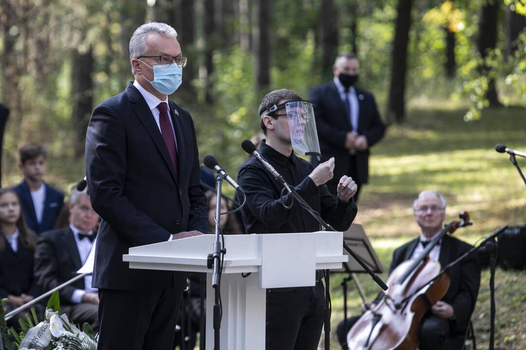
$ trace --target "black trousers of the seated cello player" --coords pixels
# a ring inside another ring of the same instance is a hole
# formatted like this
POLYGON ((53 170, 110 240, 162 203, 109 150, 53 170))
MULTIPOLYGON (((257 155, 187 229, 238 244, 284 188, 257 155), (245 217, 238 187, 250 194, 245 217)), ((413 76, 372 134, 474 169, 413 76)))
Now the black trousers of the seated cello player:
MULTIPOLYGON (((341 348, 347 350, 347 334, 352 326, 358 321, 360 316, 354 316, 347 319, 347 328, 343 328, 343 321, 338 324, 337 334, 341 348)), ((433 315, 431 312, 426 313, 420 326, 420 350, 447 350, 443 349, 444 343, 450 336, 449 321, 433 315)))

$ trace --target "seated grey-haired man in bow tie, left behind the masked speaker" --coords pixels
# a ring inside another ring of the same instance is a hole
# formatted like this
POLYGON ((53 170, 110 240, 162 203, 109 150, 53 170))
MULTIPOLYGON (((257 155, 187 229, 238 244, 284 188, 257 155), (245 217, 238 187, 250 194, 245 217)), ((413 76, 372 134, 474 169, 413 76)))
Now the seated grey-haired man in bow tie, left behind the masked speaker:
MULTIPOLYGON (((35 251, 35 277, 42 292, 74 278, 86 261, 95 238, 99 216, 89 201, 87 189, 74 187, 69 197, 69 226, 44 232, 35 251)), ((89 323, 98 330, 98 292, 92 276, 67 285, 59 291, 60 309, 82 326, 89 323)))

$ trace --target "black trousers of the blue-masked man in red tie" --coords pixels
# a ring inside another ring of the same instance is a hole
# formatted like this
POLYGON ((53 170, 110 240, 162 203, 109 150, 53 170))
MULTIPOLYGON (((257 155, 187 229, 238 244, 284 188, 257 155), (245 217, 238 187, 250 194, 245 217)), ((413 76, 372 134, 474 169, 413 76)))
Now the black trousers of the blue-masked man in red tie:
POLYGON ((183 290, 99 289, 97 350, 172 350, 183 290))

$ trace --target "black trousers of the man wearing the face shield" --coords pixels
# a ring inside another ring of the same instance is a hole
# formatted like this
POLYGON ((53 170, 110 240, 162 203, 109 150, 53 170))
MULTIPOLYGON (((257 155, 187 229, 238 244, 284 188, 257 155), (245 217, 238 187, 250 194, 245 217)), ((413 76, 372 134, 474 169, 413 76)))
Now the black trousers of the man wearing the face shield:
POLYGON ((325 290, 314 287, 267 290, 265 348, 316 350, 323 327, 325 290))

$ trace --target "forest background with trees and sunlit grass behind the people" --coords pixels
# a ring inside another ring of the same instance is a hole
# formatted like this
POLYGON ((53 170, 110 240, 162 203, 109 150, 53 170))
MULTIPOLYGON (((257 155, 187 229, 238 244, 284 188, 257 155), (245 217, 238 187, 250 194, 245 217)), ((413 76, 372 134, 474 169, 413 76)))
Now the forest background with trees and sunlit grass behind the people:
MULTIPOLYGON (((332 78, 339 51, 357 54, 358 85, 375 94, 389 125, 372 149, 357 217, 385 266, 418 231, 410 206, 422 189, 446 195, 451 219, 473 211, 471 243, 526 222, 521 180, 493 151, 495 143, 526 149, 526 0, 0 0, 0 102, 11 110, 4 186, 19 182, 17 149, 28 141, 49 147, 48 182, 67 193, 84 176, 89 116, 133 80, 129 38, 152 20, 176 28, 188 57, 170 98, 192 114, 200 156, 213 154, 231 175, 246 159, 241 140, 259 132, 265 93, 307 98, 332 78)), ((497 343, 524 349, 526 277, 499 272, 501 296, 512 297, 500 300, 497 343)), ((482 348, 487 279, 485 271, 474 315, 482 348)), ((333 330, 340 281, 332 282, 333 330)), ((369 282, 366 290, 377 292, 369 282)), ((357 295, 350 303, 358 312, 357 295)))

